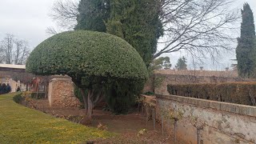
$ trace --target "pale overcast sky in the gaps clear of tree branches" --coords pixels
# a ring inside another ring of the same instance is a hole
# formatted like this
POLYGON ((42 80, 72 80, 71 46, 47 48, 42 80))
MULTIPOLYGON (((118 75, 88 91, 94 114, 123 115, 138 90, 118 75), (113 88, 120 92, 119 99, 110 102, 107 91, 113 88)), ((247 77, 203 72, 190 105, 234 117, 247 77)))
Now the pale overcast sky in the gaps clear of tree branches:
MULTIPOLYGON (((46 28, 55 26, 50 19, 50 9, 55 0, 0 0, 0 39, 6 34, 14 34, 16 38, 24 39, 29 42, 31 49, 40 42, 50 37, 46 34, 46 28)), ((234 8, 241 9, 244 2, 248 2, 254 12, 256 19, 256 0, 236 0, 234 8)), ((177 62, 180 56, 187 56, 180 52, 175 54, 166 54, 170 57, 173 64, 177 62)), ((225 58, 219 59, 219 64, 212 65, 210 60, 206 61, 203 66, 211 70, 223 70, 232 63, 231 58, 235 58, 235 54, 228 54, 225 58)), ((189 66, 192 68, 190 59, 189 66)))

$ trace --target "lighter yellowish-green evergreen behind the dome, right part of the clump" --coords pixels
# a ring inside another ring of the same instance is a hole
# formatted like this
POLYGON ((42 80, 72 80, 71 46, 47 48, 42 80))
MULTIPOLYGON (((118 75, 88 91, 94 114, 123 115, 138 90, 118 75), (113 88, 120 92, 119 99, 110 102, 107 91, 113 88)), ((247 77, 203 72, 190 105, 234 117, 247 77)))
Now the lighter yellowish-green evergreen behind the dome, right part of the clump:
POLYGON ((138 51, 146 66, 150 65, 162 35, 157 0, 111 0, 106 32, 124 38, 138 51))

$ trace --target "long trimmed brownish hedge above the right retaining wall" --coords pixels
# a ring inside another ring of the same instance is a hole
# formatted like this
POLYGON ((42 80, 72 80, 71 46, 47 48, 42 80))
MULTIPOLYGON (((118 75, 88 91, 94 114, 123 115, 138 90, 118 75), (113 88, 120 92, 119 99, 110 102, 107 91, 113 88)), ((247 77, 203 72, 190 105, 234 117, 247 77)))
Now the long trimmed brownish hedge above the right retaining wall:
POLYGON ((255 105, 256 82, 168 85, 170 94, 220 102, 255 105))

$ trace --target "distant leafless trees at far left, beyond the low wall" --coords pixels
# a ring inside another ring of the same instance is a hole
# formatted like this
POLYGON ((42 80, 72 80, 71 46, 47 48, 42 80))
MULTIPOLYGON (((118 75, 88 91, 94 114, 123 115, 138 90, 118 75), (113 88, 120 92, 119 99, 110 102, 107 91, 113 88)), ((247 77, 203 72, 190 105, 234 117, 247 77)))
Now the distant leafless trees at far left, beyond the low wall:
POLYGON ((29 54, 28 43, 15 39, 12 34, 6 34, 6 38, 0 43, 0 63, 24 64, 29 54))

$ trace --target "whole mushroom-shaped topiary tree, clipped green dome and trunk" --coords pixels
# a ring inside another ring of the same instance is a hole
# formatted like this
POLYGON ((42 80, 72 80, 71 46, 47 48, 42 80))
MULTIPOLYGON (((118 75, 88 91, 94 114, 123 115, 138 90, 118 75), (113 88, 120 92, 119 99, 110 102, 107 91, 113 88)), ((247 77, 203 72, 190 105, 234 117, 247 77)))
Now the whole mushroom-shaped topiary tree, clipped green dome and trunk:
POLYGON ((69 75, 82 93, 89 119, 102 96, 133 97, 142 90, 148 77, 142 58, 128 42, 111 34, 86 30, 46 39, 30 54, 26 70, 41 75, 69 75))

